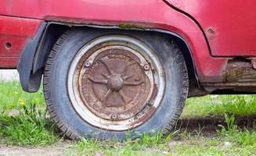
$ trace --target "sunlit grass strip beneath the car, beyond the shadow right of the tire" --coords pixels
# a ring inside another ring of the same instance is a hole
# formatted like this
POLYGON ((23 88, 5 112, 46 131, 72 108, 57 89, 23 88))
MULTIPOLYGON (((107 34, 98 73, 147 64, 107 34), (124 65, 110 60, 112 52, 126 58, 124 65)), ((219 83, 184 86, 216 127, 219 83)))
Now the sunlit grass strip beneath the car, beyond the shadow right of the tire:
POLYGON ((186 101, 182 118, 205 117, 207 115, 254 115, 256 95, 207 95, 186 101))

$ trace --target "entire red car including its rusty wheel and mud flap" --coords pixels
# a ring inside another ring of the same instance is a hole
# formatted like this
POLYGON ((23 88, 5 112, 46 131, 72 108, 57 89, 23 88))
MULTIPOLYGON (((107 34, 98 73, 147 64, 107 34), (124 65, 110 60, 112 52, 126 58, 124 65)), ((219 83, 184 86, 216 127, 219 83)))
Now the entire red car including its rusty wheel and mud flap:
POLYGON ((256 2, 2 0, 0 68, 43 77, 68 137, 168 133, 187 97, 254 94, 256 2))

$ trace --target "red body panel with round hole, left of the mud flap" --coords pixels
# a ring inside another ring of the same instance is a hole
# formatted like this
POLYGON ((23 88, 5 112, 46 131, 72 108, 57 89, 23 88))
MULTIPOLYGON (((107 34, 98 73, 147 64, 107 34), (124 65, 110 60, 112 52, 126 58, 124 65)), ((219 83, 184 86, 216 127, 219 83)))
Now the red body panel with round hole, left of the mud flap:
POLYGON ((41 20, 0 16, 0 67, 15 68, 20 53, 38 30, 41 20), (6 44, 10 44, 8 47, 6 44))

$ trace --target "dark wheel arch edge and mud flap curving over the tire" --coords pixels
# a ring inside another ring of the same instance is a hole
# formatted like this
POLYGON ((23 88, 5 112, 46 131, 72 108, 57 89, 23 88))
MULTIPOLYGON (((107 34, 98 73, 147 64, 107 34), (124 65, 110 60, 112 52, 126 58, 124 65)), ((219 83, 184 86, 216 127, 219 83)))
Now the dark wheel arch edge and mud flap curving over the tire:
MULTIPOLYGON (((186 40, 180 37, 178 34, 171 32, 169 30, 160 30, 160 29, 140 29, 139 27, 130 27, 130 26, 96 26, 96 25, 87 25, 87 24, 69 24, 69 23, 55 23, 49 22, 44 24, 43 31, 39 31, 36 36, 40 37, 40 40, 34 41, 31 45, 27 44, 27 46, 34 46, 34 51, 30 51, 30 55, 26 55, 23 57, 24 53, 26 53, 26 48, 23 51, 23 55, 20 58, 20 62, 18 65, 18 72, 20 74, 21 86, 23 90, 27 92, 35 92, 38 91, 41 84, 41 76, 43 73, 43 69, 45 66, 45 62, 49 56, 51 48, 53 44, 57 41, 61 34, 65 30, 70 27, 84 27, 89 28, 93 27, 96 29, 121 29, 121 30, 144 30, 148 33, 157 32, 160 35, 168 35, 171 39, 174 39, 178 46, 182 49, 182 55, 185 58, 186 66, 189 72, 189 88, 190 85, 199 87, 199 82, 197 78, 197 70, 193 60, 192 52, 189 48, 189 44, 186 40), (31 66, 27 66, 26 62, 29 60, 33 60, 31 66)), ((26 47, 27 47, 26 46, 26 47)))

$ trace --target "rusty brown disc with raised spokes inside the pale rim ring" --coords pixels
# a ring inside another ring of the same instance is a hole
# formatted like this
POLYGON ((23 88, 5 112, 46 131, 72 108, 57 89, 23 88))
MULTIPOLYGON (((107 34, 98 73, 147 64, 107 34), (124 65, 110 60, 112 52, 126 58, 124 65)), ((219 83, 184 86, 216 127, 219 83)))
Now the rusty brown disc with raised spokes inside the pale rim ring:
POLYGON ((150 94, 150 79, 139 58, 121 47, 109 47, 94 57, 79 83, 85 105, 103 119, 113 119, 113 113, 118 120, 128 119, 140 112, 150 94))

